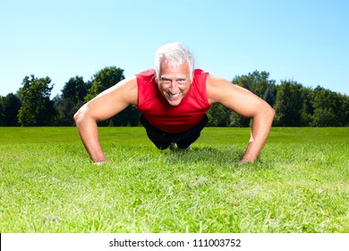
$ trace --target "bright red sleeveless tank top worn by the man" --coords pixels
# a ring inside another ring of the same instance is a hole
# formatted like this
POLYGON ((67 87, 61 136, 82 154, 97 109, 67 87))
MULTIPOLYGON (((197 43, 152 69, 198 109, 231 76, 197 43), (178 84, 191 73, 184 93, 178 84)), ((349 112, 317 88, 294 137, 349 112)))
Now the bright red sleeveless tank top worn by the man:
POLYGON ((194 70, 191 88, 182 102, 173 107, 161 96, 155 82, 155 70, 136 74, 138 84, 138 110, 158 129, 168 134, 182 133, 197 125, 209 110, 206 95, 208 73, 194 70))

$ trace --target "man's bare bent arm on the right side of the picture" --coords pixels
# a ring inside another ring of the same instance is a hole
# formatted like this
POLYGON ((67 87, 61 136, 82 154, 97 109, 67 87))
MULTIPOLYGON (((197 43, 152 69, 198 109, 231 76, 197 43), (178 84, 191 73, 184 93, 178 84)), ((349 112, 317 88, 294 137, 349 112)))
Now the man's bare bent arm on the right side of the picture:
POLYGON ((217 102, 243 117, 252 118, 250 142, 239 164, 256 160, 267 141, 274 109, 251 91, 212 75, 207 80, 207 93, 210 104, 217 102))

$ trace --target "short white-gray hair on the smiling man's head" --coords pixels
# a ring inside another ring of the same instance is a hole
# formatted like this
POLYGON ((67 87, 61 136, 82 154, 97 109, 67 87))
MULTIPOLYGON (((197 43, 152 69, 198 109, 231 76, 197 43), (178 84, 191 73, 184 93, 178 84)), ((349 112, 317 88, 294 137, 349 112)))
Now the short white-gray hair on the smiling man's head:
POLYGON ((157 74, 157 79, 160 78, 160 65, 163 61, 165 61, 168 65, 174 66, 183 65, 185 62, 187 62, 192 81, 194 57, 188 48, 185 48, 180 43, 168 43, 160 48, 157 48, 157 51, 155 52, 155 72, 157 74))

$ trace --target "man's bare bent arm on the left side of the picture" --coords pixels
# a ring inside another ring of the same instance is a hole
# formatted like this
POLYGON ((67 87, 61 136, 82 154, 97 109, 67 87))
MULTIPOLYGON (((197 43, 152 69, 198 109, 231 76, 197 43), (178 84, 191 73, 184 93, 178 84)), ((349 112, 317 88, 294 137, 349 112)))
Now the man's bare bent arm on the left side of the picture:
POLYGON ((137 105, 137 99, 137 81, 132 77, 103 91, 75 113, 75 124, 91 160, 96 163, 106 161, 98 139, 97 122, 115 116, 129 105, 137 105))

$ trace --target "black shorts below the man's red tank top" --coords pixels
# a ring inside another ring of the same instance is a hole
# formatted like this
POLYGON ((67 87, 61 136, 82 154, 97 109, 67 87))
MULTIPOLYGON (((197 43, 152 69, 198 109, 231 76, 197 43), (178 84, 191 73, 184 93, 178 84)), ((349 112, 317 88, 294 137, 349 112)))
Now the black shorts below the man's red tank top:
POLYGON ((209 119, 205 114, 200 122, 192 127, 192 129, 179 134, 167 134, 154 125, 151 125, 143 115, 140 116, 140 123, 146 129, 149 140, 160 150, 165 150, 171 143, 177 143, 178 148, 181 149, 188 148, 200 137, 200 133, 208 121, 209 119))

